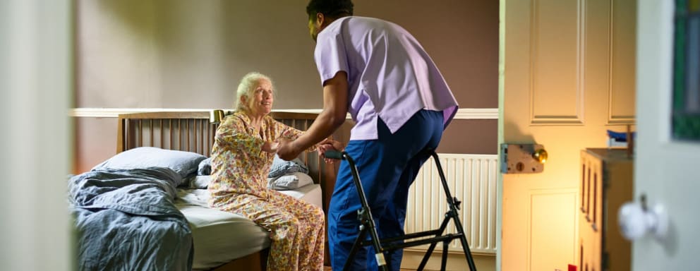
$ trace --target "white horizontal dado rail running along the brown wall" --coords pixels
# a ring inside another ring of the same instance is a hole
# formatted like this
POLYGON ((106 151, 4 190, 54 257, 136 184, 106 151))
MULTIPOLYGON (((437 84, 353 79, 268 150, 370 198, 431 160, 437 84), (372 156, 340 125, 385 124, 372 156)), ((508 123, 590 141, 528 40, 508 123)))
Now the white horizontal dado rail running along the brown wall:
MULTIPOLYGON (((116 118, 119 114, 138 112, 178 112, 178 111, 205 111, 213 109, 183 109, 183 108, 73 108, 68 113, 69 116, 84 118, 116 118)), ((321 109, 274 109, 272 112, 297 112, 297 113, 320 113, 321 109)), ((348 116, 349 118, 349 116, 348 116)), ((457 110, 454 119, 498 119, 497 108, 462 108, 457 110)))

